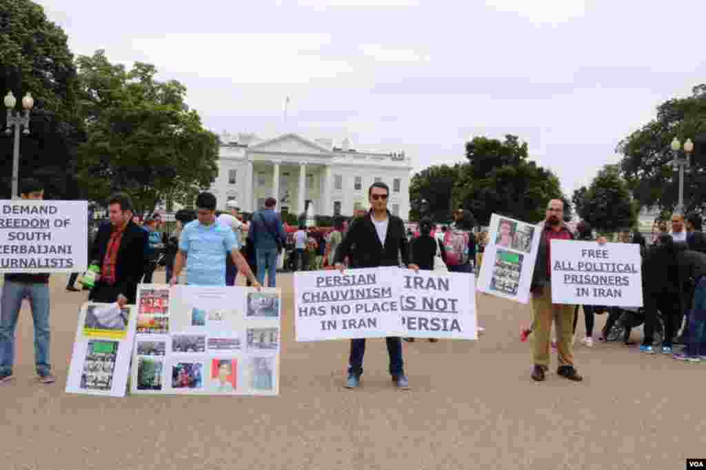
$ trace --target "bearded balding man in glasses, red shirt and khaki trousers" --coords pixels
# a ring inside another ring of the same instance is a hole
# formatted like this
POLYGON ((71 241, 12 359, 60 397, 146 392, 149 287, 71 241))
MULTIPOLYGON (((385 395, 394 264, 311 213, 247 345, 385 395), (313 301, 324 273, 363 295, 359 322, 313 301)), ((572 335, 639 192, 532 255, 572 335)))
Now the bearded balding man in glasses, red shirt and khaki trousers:
MULTIPOLYGON (((546 208, 546 218, 538 229, 541 234, 537 261, 532 274, 532 312, 534 322, 534 345, 532 346, 532 379, 544 380, 544 372, 549 368, 549 346, 551 343, 551 323, 556 328, 558 351, 558 375, 580 382, 583 377, 576 372, 573 360, 573 305, 555 304, 551 301, 551 240, 573 240, 573 233, 563 223, 564 204, 561 199, 552 199, 546 208)), ((606 242, 600 237, 598 242, 606 242)))

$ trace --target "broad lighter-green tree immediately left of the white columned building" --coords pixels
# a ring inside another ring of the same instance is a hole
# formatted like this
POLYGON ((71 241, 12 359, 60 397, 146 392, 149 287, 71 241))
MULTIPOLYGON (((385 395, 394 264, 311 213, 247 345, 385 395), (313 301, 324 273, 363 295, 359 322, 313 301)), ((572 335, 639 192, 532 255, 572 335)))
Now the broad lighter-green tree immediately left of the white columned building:
POLYGON ((127 71, 102 50, 77 63, 88 131, 78 176, 90 199, 121 190, 138 213, 148 213, 166 199, 188 203, 195 188, 210 186, 218 171, 218 139, 186 106, 181 83, 156 81, 150 64, 136 62, 127 71))

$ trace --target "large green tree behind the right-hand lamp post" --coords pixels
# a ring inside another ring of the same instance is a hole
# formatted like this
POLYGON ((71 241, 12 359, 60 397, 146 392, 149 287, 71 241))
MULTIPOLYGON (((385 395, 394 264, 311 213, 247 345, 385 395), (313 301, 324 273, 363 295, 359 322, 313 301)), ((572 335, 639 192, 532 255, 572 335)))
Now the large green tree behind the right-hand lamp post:
POLYGON ((674 137, 694 142, 691 168, 684 184, 688 211, 703 209, 706 200, 706 84, 695 86, 687 98, 673 98, 657 107, 657 117, 623 139, 621 174, 640 206, 671 211, 678 199, 678 172, 670 143, 674 137))

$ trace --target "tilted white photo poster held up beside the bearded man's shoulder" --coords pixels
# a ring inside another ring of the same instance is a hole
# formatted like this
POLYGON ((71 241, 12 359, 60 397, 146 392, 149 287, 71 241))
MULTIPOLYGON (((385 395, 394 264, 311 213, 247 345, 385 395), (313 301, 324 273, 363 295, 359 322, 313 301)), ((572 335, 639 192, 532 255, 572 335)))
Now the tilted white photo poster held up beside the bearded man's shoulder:
POLYGON ((541 227, 493 214, 478 290, 515 302, 529 302, 541 227))

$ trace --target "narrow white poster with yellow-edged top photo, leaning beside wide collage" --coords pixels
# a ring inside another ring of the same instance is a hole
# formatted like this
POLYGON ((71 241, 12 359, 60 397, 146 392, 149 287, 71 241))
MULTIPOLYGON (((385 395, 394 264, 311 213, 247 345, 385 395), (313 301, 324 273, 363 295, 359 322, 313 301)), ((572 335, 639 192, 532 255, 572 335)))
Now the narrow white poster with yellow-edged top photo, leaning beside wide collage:
POLYGON ((136 309, 83 304, 66 380, 66 393, 125 396, 135 339, 136 309))

